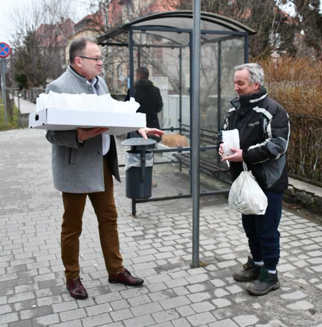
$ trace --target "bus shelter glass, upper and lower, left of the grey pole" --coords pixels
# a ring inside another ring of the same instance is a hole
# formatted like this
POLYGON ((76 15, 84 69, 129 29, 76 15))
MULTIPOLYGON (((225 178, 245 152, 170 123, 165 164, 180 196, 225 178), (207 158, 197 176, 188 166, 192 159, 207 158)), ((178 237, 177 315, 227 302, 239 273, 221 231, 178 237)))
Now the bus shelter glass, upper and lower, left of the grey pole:
MULTIPOLYGON (((162 96, 163 108, 157 115, 160 128, 166 133, 162 141, 157 143, 156 148, 167 150, 178 146, 189 146, 189 138, 180 134, 181 120, 186 128, 190 126, 190 50, 189 46, 181 45, 189 44, 189 34, 167 32, 154 35, 150 32, 134 31, 133 40, 134 70, 138 67, 147 68, 149 80, 159 88, 162 96), (172 41, 173 39, 175 41, 172 41)), ((142 85, 142 82, 140 84, 142 85)), ((149 94, 148 91, 146 92, 149 94)), ((152 189, 152 193, 154 190, 156 192, 152 194, 154 197, 190 193, 189 167, 187 164, 179 166, 174 154, 177 152, 154 155, 153 175, 154 181, 158 183, 158 187, 152 189), (169 163, 171 161, 172 163, 169 163), (158 164, 158 162, 168 163, 158 164), (174 179, 177 179, 178 183, 176 187, 169 189, 174 179)))

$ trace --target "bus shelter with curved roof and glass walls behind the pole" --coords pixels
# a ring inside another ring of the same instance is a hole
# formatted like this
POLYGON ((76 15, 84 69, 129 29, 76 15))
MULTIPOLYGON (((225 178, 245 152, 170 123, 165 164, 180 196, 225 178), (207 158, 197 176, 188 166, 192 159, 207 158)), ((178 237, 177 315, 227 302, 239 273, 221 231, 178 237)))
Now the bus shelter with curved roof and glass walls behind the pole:
MULTIPOLYGON (((164 107, 160 126, 174 139, 185 136, 187 145, 169 147, 158 144, 156 153, 163 153, 155 164, 178 165, 181 171, 192 167, 193 133, 200 137, 200 171, 229 182, 226 164, 216 152, 216 139, 233 91, 233 68, 248 62, 249 36, 256 32, 237 21, 220 15, 201 12, 200 44, 200 129, 192 128, 193 12, 173 11, 141 17, 99 37, 99 44, 108 47, 108 81, 112 89, 127 81, 134 96, 134 75, 137 67, 146 67, 150 80, 159 87, 164 107), (109 74, 110 70, 110 74, 109 74), (124 78, 125 76, 125 78, 124 78)), ((171 137, 170 137, 171 139, 171 137)), ((132 200, 132 214, 140 202, 175 200, 192 197, 194 187, 190 176, 188 189, 144 200, 132 200)), ((200 195, 227 193, 229 185, 220 187, 206 183, 200 195)))

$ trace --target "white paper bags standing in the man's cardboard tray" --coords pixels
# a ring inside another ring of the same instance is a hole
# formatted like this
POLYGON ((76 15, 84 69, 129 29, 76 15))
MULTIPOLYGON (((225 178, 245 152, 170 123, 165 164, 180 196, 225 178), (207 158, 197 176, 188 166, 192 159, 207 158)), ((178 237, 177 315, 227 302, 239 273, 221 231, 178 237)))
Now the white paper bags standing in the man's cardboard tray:
POLYGON ((67 94, 49 91, 41 93, 36 100, 36 111, 44 109, 96 111, 116 113, 136 113, 140 104, 130 98, 130 101, 117 101, 110 94, 67 94))

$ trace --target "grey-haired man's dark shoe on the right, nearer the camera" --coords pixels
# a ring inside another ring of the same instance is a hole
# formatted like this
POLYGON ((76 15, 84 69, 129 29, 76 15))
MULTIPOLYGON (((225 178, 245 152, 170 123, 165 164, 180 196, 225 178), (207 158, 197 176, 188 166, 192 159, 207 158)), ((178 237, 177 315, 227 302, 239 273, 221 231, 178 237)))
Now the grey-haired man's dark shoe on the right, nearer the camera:
POLYGON ((265 267, 261 267, 257 281, 247 287, 247 290, 254 295, 265 295, 269 291, 280 287, 280 282, 276 274, 271 274, 265 267))

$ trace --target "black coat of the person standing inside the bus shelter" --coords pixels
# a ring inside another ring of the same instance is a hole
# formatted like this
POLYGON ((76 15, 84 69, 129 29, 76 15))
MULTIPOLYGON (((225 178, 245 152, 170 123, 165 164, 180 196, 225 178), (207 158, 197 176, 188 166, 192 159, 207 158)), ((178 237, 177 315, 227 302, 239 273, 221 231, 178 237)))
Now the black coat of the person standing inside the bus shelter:
MULTIPOLYGON (((134 98, 140 104, 136 112, 146 114, 146 127, 160 129, 157 113, 162 110, 163 102, 159 88, 153 85, 150 80, 138 80, 134 84, 134 98)), ((125 101, 130 99, 130 90, 127 91, 125 101)), ((149 136, 159 142, 161 137, 149 136)))

